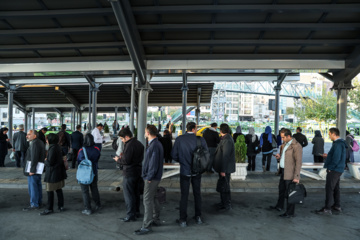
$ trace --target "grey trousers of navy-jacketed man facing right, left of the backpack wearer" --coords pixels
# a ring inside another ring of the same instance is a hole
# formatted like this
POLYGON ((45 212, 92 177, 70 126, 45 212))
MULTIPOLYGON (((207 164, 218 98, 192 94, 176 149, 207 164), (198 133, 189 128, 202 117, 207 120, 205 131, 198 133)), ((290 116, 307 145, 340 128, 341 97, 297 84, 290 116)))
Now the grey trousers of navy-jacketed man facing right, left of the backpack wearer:
POLYGON ((149 183, 145 180, 144 187, 144 221, 143 228, 151 227, 151 223, 159 221, 160 217, 160 204, 157 199, 157 188, 160 181, 152 180, 149 183))

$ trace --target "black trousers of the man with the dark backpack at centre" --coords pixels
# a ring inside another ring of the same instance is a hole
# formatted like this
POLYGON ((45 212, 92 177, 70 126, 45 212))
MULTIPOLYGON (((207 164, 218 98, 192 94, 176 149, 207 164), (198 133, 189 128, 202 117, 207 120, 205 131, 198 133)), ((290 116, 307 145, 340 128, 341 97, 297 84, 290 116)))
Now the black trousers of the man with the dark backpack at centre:
POLYGON ((186 221, 187 219, 187 204, 189 198, 190 182, 193 189, 194 202, 195 202, 195 216, 201 216, 201 174, 188 177, 180 174, 180 220, 186 221))

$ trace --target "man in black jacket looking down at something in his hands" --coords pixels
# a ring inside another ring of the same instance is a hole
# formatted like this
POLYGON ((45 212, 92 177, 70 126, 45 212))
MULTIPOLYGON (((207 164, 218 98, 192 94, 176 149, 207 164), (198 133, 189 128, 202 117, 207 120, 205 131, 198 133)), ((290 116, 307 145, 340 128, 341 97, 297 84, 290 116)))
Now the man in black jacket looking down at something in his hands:
POLYGON ((126 205, 126 217, 123 222, 136 221, 139 214, 140 193, 139 184, 141 179, 141 164, 144 159, 144 145, 133 138, 129 128, 119 132, 119 137, 124 143, 124 151, 121 156, 114 157, 123 166, 123 192, 126 205))

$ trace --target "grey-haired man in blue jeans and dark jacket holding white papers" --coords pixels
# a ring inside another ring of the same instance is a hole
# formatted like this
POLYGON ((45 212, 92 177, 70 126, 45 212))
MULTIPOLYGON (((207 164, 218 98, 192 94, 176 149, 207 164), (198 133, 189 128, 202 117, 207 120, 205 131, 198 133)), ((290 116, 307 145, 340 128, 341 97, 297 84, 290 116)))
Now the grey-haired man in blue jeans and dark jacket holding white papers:
POLYGON ((30 146, 26 151, 25 160, 31 162, 31 168, 29 173, 25 172, 25 164, 24 175, 28 177, 30 206, 23 208, 23 211, 30 211, 39 209, 42 204, 41 174, 36 174, 36 167, 39 162, 45 160, 45 145, 38 138, 39 133, 36 130, 29 130, 26 137, 30 142, 30 146))

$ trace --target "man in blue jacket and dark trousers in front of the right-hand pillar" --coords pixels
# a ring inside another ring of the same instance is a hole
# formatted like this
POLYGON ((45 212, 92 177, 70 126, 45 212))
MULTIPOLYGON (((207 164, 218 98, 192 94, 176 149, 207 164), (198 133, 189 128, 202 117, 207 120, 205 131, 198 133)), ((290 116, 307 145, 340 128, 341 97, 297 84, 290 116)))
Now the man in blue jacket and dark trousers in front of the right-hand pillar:
POLYGON ((342 212, 340 205, 340 176, 345 169, 346 148, 345 140, 340 138, 340 131, 337 128, 329 129, 329 137, 333 141, 328 154, 322 156, 326 158, 324 168, 326 168, 326 198, 325 207, 316 211, 317 214, 332 215, 334 212, 342 212))

